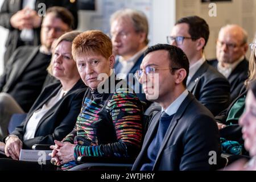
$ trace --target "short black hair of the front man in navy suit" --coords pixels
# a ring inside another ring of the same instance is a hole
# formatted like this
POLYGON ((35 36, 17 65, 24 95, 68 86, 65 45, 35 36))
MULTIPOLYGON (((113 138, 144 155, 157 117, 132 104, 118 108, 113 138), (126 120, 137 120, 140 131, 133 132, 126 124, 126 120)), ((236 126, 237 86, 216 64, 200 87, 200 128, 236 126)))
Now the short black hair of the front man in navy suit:
MULTIPOLYGON (((168 51, 168 58, 170 60, 170 68, 184 68, 187 72, 187 75, 185 76, 183 80, 183 85, 186 87, 187 85, 187 78, 189 73, 189 61, 188 57, 185 55, 185 53, 180 49, 179 47, 172 46, 170 44, 156 44, 155 46, 148 47, 146 51, 144 52, 144 56, 146 56, 148 53, 153 51, 159 51, 159 50, 166 50, 168 51)), ((171 73, 173 74, 174 71, 171 70, 171 73)))

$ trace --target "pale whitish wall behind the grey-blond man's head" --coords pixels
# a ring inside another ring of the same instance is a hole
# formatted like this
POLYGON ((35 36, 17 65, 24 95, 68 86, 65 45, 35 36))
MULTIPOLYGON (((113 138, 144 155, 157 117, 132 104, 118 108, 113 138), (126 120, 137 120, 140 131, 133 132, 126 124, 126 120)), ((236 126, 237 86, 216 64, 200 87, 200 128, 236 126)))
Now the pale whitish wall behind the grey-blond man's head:
POLYGON ((121 8, 143 11, 148 18, 149 45, 167 43, 166 36, 175 23, 175 0, 97 0, 96 11, 79 11, 79 30, 100 29, 109 33, 109 17, 121 8))

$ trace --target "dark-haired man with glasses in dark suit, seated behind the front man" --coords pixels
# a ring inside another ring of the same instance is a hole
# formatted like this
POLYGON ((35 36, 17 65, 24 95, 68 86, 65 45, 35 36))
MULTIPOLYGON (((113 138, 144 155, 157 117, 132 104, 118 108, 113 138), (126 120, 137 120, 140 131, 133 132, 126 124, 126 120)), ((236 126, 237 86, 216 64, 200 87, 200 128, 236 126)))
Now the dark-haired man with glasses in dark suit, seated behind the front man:
POLYGON ((217 115, 229 106, 230 85, 228 80, 205 60, 203 52, 208 38, 207 22, 199 16, 187 16, 177 20, 171 36, 167 36, 167 41, 183 49, 188 56, 187 89, 213 115, 217 115))

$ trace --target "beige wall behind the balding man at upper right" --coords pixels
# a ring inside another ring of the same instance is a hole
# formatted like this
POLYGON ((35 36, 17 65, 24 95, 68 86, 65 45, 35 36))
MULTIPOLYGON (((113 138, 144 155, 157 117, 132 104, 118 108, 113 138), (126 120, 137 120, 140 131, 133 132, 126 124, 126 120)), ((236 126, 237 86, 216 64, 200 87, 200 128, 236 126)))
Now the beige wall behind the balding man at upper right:
MULTIPOLYGON (((201 0, 176 1, 176 19, 188 15, 198 15, 204 18, 210 27, 210 37, 205 48, 205 56, 208 59, 216 57, 216 39, 220 27, 225 24, 236 23, 248 32, 249 43, 252 42, 255 33, 255 0, 232 0, 232 2, 216 2, 217 16, 210 17, 209 3, 201 3, 201 0)), ((250 50, 246 57, 249 58, 250 50)))

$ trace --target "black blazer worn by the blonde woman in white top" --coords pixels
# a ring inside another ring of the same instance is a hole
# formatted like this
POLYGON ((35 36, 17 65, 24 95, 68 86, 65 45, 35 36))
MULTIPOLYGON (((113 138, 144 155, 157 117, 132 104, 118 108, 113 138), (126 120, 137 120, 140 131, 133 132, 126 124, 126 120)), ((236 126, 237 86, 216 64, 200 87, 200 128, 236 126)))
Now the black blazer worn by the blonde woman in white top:
MULTIPOLYGON (((31 107, 26 119, 22 124, 13 131, 23 140, 28 119, 34 111, 40 109, 50 98, 61 88, 60 83, 55 83, 47 86, 40 94, 35 104, 31 107)), ((65 96, 59 100, 39 121, 36 128, 35 138, 23 140, 23 148, 31 149, 34 144, 54 144, 54 140, 62 140, 69 134, 76 123, 77 115, 79 115, 82 105, 82 98, 86 91, 86 86, 80 79, 75 86, 68 91, 65 96)))

